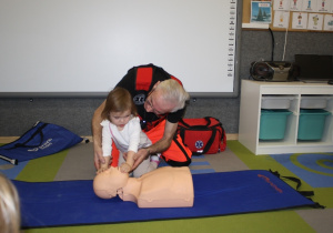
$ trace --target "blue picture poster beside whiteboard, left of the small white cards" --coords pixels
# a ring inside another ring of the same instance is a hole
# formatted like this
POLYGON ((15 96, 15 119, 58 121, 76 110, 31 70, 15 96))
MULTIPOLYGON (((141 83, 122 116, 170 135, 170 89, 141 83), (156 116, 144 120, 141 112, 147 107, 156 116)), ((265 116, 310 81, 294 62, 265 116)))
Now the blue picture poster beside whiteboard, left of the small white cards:
POLYGON ((251 19, 250 22, 271 23, 272 7, 270 1, 251 1, 251 19))

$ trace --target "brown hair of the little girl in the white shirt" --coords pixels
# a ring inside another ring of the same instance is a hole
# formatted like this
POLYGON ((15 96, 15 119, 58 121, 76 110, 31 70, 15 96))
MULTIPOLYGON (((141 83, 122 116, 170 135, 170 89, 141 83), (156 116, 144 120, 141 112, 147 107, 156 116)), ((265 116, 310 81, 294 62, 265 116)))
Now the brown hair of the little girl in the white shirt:
POLYGON ((137 107, 130 92, 123 88, 114 88, 108 94, 105 107, 101 113, 103 120, 110 120, 110 112, 131 111, 131 114, 138 115, 137 107))

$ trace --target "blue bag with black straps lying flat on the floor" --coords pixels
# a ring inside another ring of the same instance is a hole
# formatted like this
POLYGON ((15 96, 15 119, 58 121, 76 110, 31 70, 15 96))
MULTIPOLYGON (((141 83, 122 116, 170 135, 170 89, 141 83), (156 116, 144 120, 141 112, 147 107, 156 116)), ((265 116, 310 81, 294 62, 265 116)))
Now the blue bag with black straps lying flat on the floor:
POLYGON ((62 126, 38 121, 18 140, 0 146, 0 159, 18 164, 18 162, 54 154, 82 140, 62 126))

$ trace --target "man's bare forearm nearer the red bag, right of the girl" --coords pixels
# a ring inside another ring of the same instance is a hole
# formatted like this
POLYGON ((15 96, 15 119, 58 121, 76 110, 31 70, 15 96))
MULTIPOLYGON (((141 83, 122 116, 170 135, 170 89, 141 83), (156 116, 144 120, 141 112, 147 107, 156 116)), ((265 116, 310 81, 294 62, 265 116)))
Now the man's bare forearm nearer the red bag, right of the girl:
POLYGON ((138 153, 135 154, 135 162, 133 164, 132 170, 134 170, 144 159, 149 156, 149 154, 157 154, 165 151, 174 136, 174 133, 176 131, 178 123, 171 123, 167 120, 165 128, 164 128, 164 134, 161 140, 155 142, 149 148, 140 149, 138 153))

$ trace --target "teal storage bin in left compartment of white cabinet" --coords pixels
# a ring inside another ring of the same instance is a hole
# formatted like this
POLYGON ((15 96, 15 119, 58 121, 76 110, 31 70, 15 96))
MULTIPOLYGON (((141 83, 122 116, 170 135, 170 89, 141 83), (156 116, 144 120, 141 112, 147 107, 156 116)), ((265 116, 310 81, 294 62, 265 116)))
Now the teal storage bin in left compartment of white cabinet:
POLYGON ((283 140, 287 115, 292 112, 287 110, 261 110, 260 140, 283 140))

